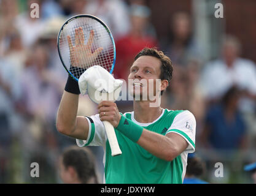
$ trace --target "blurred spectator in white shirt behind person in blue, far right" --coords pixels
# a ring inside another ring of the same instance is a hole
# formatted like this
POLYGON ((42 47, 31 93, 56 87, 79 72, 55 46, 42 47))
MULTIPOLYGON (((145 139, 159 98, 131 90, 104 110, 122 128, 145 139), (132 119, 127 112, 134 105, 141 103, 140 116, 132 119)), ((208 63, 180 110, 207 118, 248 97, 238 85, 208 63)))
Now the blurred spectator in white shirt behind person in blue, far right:
POLYGON ((247 99, 242 99, 242 111, 249 111, 255 108, 256 65, 249 59, 240 58, 240 53, 238 39, 227 35, 222 44, 222 57, 206 65, 201 86, 207 100, 217 100, 231 86, 238 86, 247 95, 247 99))

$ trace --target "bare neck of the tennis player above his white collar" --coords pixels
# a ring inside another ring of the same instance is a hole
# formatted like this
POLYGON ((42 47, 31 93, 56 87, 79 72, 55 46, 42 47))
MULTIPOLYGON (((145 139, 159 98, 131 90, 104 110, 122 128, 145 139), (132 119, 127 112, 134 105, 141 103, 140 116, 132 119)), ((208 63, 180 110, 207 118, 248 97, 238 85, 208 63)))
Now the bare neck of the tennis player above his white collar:
POLYGON ((139 123, 152 123, 157 119, 163 108, 159 107, 150 107, 149 101, 133 101, 133 109, 134 109, 134 119, 139 123))

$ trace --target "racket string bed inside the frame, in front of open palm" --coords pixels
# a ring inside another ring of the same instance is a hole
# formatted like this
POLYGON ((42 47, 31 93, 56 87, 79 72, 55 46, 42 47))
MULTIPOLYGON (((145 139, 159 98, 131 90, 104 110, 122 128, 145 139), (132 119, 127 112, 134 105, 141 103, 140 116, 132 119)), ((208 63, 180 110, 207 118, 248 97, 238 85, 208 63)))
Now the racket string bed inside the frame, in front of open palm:
POLYGON ((107 29, 98 21, 92 18, 78 18, 68 23, 60 37, 60 49, 65 50, 68 55, 69 71, 74 77, 79 78, 83 72, 91 66, 101 66, 111 71, 114 61, 114 45, 107 29), (80 39, 80 32, 77 35, 76 29, 82 28, 83 39, 80 39), (93 30, 93 42, 87 46, 90 39, 90 32, 93 30), (68 45, 67 36, 71 37, 72 47, 68 45), (80 45, 82 42, 82 45, 80 45), (88 50, 88 48, 90 50, 88 50), (103 48, 97 57, 93 55, 98 48, 103 48), (80 68, 80 69, 77 69, 80 68))

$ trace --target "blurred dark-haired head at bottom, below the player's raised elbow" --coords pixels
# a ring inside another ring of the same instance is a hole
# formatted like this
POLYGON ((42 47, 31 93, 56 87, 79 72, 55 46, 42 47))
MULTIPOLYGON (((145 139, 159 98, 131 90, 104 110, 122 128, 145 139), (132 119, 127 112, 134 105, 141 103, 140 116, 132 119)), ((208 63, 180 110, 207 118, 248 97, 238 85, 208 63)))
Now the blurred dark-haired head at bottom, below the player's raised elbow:
POLYGON ((97 184, 96 161, 90 149, 66 148, 60 157, 60 176, 65 184, 97 184))

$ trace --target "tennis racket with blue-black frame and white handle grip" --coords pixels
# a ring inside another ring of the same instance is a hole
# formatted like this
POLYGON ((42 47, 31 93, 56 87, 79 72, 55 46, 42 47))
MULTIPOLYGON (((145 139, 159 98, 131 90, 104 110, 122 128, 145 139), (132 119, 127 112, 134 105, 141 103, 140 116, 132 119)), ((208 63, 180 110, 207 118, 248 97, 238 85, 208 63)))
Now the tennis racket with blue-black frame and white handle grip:
MULTIPOLYGON (((101 66, 112 74, 115 66, 115 42, 103 21, 93 15, 69 18, 58 34, 58 53, 64 69, 74 80, 92 66, 101 66)), ((103 121, 112 156, 122 154, 114 127, 103 121)))

